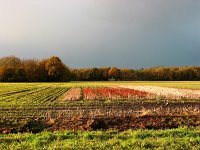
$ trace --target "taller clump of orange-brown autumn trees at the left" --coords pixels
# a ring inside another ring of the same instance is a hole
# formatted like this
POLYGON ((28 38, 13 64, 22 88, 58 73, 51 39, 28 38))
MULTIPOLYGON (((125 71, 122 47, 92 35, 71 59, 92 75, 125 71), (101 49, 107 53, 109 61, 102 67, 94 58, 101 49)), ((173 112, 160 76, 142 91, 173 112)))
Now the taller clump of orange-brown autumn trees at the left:
POLYGON ((0 58, 1 82, 62 82, 69 81, 69 75, 69 68, 55 56, 43 60, 0 58))

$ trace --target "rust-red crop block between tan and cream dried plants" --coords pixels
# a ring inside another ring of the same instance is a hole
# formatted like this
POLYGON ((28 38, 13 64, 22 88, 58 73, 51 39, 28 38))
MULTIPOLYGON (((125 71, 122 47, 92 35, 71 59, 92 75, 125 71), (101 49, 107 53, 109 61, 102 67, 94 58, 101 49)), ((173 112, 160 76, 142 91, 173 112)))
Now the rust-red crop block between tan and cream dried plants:
POLYGON ((128 89, 128 88, 84 88, 83 98, 86 100, 102 100, 102 99, 144 99, 149 98, 150 93, 128 89))

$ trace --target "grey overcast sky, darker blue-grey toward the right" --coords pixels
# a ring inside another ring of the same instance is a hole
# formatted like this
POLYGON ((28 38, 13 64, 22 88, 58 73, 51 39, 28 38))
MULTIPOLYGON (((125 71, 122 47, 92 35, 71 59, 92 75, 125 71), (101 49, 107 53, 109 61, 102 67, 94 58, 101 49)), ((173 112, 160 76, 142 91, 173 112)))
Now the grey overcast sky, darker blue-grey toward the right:
POLYGON ((200 65, 200 0, 0 0, 0 57, 200 65))

